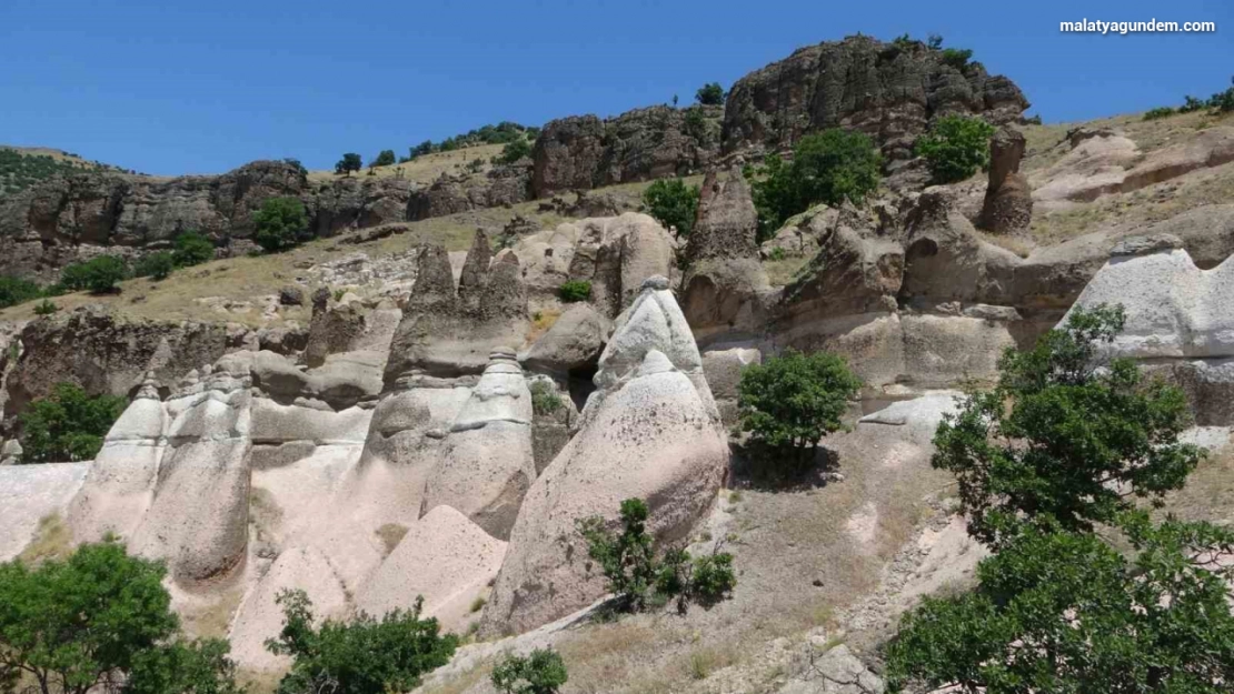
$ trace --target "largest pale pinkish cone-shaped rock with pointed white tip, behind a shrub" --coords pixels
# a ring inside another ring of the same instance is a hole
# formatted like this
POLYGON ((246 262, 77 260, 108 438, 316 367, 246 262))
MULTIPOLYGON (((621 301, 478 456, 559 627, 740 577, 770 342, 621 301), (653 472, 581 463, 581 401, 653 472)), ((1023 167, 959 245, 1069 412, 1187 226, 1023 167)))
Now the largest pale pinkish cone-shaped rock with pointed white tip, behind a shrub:
POLYGON ((622 499, 648 502, 648 530, 676 544, 710 508, 728 444, 698 350, 668 280, 647 282, 600 360, 579 433, 520 510, 482 630, 521 632, 603 594, 574 523, 616 519, 622 499))

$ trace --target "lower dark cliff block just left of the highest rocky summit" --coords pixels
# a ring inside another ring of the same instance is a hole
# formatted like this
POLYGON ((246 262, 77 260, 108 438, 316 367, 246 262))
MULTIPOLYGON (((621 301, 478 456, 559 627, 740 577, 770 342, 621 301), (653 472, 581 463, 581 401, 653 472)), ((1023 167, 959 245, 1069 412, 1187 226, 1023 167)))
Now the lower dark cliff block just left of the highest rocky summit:
POLYGON ((718 149, 710 125, 718 117, 718 107, 650 106, 605 121, 596 116, 549 121, 532 152, 532 191, 549 197, 698 170, 718 149))

